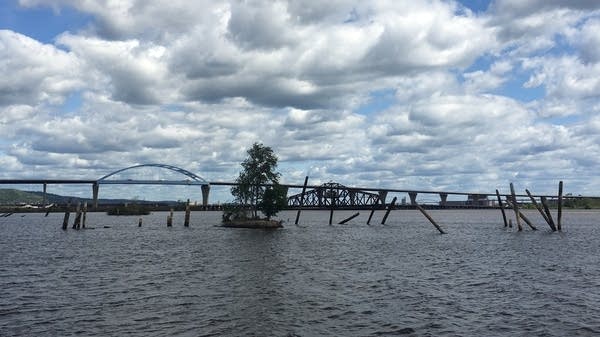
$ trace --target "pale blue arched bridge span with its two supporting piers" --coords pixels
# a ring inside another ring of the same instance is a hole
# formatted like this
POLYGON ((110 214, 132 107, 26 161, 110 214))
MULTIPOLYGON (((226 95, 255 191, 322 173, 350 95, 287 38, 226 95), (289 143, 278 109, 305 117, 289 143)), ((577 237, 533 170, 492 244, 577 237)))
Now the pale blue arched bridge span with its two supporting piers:
POLYGON ((188 170, 184 170, 180 167, 173 166, 173 165, 167 165, 167 164, 140 164, 140 165, 133 165, 133 166, 129 166, 126 168, 122 168, 120 170, 116 170, 116 171, 111 172, 111 173, 101 177, 100 179, 96 180, 94 182, 93 188, 92 188, 93 197, 94 197, 94 207, 98 206, 98 192, 100 190, 100 185, 104 185, 104 184, 113 184, 113 185, 115 185, 115 184, 119 184, 119 185, 200 185, 202 188, 202 204, 205 206, 208 204, 208 193, 210 191, 210 183, 206 179, 204 179, 204 178, 200 177, 199 175, 196 175, 195 173, 192 173, 188 170), (134 170, 134 169, 143 168, 143 167, 156 167, 156 168, 161 168, 161 169, 167 169, 167 170, 179 173, 181 175, 184 175, 187 177, 187 179, 182 179, 182 180, 109 179, 110 177, 113 177, 124 171, 134 170))

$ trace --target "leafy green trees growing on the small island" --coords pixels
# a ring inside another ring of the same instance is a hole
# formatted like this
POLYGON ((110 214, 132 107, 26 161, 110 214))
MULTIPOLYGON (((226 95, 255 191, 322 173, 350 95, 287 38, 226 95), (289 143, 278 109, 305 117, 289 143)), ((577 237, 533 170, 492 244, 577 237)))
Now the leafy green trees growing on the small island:
POLYGON ((242 162, 242 171, 235 180, 239 185, 231 188, 231 194, 239 204, 252 208, 252 217, 261 211, 267 219, 286 206, 287 191, 279 185, 281 174, 276 172, 277 156, 273 149, 262 143, 254 143, 242 162), (265 185, 272 186, 266 187, 265 185))

